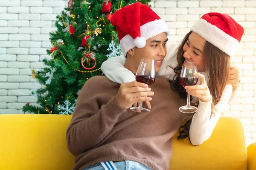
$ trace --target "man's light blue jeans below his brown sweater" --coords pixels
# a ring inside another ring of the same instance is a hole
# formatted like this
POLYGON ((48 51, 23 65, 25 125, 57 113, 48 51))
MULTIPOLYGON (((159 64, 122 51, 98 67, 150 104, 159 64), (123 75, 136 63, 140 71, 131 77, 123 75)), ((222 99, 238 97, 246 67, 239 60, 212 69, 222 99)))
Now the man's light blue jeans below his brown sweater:
MULTIPOLYGON (((118 161, 113 162, 118 170, 151 170, 143 164, 135 161, 118 161)), ((101 163, 90 165, 83 170, 105 170, 101 163)))

